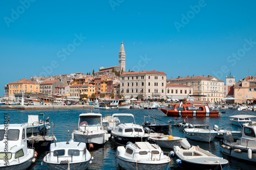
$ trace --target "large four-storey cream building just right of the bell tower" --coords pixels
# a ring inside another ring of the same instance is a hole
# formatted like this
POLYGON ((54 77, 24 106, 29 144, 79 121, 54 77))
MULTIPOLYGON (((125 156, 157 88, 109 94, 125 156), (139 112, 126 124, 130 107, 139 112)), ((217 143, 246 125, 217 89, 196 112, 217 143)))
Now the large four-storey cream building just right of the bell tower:
POLYGON ((166 74, 162 71, 133 71, 120 75, 120 94, 124 98, 165 97, 165 88, 166 74))

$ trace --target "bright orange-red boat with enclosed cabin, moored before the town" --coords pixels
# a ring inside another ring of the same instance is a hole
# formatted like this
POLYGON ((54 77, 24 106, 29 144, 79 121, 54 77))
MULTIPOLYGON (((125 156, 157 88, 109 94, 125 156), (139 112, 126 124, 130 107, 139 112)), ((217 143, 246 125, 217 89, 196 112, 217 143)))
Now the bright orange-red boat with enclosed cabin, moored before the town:
POLYGON ((185 103, 185 104, 174 104, 172 109, 158 109, 164 112, 167 116, 209 116, 218 117, 219 111, 211 111, 208 105, 204 105, 204 102, 197 103, 185 103))

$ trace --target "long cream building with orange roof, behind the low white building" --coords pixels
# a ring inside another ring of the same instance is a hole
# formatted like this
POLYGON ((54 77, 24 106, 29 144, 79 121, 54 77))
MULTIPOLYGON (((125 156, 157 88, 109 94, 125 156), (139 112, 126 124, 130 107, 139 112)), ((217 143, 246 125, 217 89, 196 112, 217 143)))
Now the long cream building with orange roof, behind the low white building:
POLYGON ((169 83, 193 87, 193 96, 199 101, 215 103, 221 102, 224 98, 224 81, 214 76, 178 76, 178 78, 169 80, 169 83))

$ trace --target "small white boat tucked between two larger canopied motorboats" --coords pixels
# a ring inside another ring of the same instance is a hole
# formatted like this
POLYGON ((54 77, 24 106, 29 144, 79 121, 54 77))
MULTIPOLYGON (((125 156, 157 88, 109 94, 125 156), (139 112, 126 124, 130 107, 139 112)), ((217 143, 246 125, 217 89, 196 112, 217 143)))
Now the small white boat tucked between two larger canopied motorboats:
MULTIPOLYGON (((121 114, 121 113, 120 113, 121 114)), ((118 124, 120 124, 120 120, 118 117, 119 114, 105 114, 105 117, 102 118, 102 125, 108 129, 108 132, 111 133, 112 129, 115 129, 118 124)))

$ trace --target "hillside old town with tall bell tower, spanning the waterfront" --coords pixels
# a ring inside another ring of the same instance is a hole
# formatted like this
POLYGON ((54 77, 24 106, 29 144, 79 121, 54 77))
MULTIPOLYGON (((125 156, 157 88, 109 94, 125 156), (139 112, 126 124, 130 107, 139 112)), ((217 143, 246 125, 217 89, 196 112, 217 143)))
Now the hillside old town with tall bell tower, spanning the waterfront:
MULTIPOLYGON (((9 82, 1 101, 15 103, 22 99, 70 99, 94 101, 99 99, 136 99, 165 101, 198 100, 215 103, 253 104, 256 101, 256 78, 235 81, 231 73, 226 80, 211 75, 178 76, 167 79, 161 70, 127 71, 124 44, 121 42, 119 66, 100 67, 87 74, 75 72, 49 77, 31 77, 9 82)), ((170 76, 170 75, 169 75, 170 76)), ((85 101, 85 102, 86 102, 85 101)))

